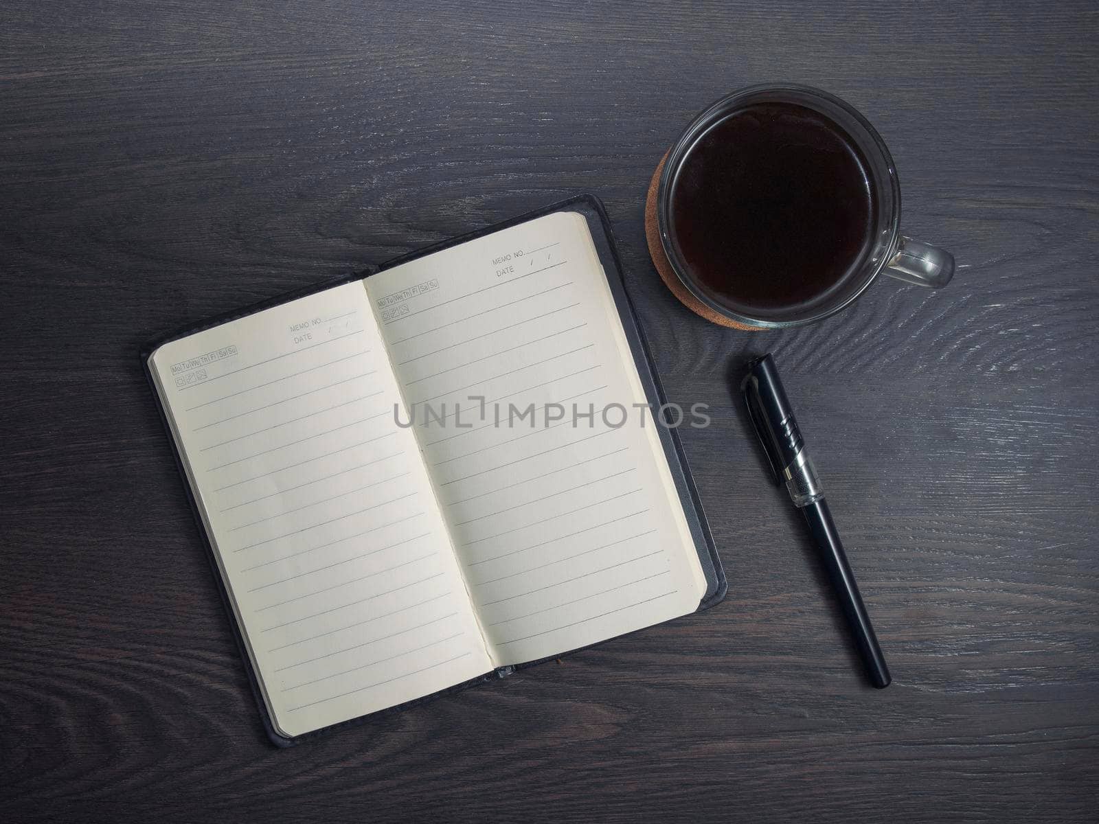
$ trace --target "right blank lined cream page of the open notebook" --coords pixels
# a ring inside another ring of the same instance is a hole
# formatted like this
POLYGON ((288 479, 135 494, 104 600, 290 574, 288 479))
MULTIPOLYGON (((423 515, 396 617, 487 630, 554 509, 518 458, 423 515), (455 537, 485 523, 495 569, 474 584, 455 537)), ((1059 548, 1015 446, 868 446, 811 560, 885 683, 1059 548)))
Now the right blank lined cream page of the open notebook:
POLYGON ((704 578, 581 215, 365 283, 497 664, 698 609, 704 578), (533 410, 509 425, 509 404, 533 410))

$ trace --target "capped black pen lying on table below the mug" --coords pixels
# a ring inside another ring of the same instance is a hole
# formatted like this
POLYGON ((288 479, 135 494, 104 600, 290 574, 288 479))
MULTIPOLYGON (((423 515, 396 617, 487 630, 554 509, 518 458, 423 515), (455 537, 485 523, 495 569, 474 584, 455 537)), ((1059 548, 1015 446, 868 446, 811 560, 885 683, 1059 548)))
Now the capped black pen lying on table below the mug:
POLYGON ((806 442, 798 431, 790 401, 778 377, 775 358, 769 354, 748 363, 748 374, 741 383, 748 415, 763 444, 777 483, 786 483, 793 505, 797 506, 821 552, 824 568, 840 599, 843 614, 855 636, 858 653, 866 665, 870 683, 878 689, 889 686, 889 668, 881 655, 881 647, 874 635, 874 627, 866 614, 858 584, 847 564, 847 556, 840 543, 840 534, 832 522, 824 501, 824 492, 817 470, 806 449, 806 442))

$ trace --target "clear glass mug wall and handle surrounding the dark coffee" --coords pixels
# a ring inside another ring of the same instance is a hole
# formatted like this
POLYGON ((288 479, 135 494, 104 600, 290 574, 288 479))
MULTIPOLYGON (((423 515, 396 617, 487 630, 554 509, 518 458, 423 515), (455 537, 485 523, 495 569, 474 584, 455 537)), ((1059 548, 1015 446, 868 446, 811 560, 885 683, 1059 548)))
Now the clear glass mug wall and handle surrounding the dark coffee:
POLYGON ((751 86, 722 98, 699 114, 668 152, 657 189, 656 218, 660 245, 676 277, 687 290, 719 315, 757 330, 800 326, 828 318, 850 307, 878 275, 925 287, 945 286, 954 276, 954 257, 948 252, 900 234, 900 183, 892 156, 881 136, 847 103, 809 86, 751 86), (835 289, 808 307, 759 310, 747 315, 743 310, 725 305, 692 277, 676 241, 671 203, 685 162, 698 142, 731 114, 747 105, 765 102, 803 105, 823 114, 841 129, 865 163, 874 213, 869 243, 835 289))

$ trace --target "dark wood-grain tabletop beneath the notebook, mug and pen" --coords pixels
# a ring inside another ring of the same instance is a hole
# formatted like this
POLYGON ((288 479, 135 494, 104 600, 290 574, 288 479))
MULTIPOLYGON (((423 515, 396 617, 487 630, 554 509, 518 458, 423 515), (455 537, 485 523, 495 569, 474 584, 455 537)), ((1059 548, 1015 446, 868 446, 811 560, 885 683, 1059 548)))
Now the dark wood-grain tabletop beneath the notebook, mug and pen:
POLYGON ((1096 4, 0 10, 0 820, 1086 821, 1099 805, 1096 4), (959 263, 708 325, 642 200, 722 93, 878 126, 959 263), (264 737, 137 349, 577 190, 613 219, 725 603, 289 750, 264 737), (895 683, 862 680, 730 374, 771 349, 895 683))

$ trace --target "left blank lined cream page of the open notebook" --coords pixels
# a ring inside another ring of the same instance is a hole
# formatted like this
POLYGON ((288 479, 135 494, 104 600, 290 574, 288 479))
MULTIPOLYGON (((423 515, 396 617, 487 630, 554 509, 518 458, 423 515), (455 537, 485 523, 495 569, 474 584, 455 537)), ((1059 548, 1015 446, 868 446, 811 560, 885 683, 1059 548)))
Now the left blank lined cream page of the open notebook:
POLYGON ((360 283, 165 344, 152 367, 280 732, 491 669, 360 283))

